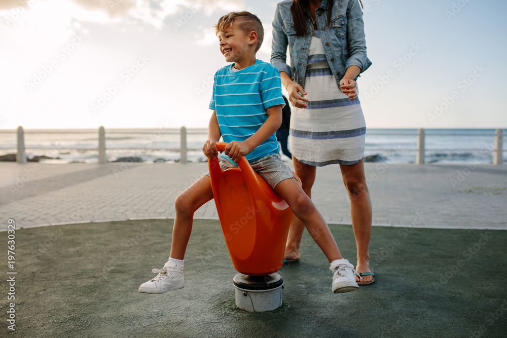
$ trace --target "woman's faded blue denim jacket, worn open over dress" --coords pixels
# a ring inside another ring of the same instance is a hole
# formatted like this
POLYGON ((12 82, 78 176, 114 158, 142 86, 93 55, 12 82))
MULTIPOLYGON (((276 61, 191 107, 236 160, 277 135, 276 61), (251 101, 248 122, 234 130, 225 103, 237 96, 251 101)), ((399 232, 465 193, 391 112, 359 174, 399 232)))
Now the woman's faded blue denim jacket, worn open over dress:
MULTIPOLYGON (((366 55, 363 11, 358 0, 335 0, 332 9, 331 24, 328 26, 328 14, 325 11, 328 0, 322 0, 315 10, 317 28, 324 48, 325 57, 333 72, 336 83, 345 75, 351 65, 361 68, 361 72, 372 62, 366 55)), ((292 0, 286 0, 276 6, 273 20, 273 42, 271 45, 271 63, 279 71, 285 71, 294 82, 304 88, 308 50, 313 32, 313 20, 308 20, 308 34, 296 36, 291 14, 292 0), (287 45, 291 55, 291 66, 286 63, 287 45)), ((308 14, 309 16, 309 14, 308 14)))

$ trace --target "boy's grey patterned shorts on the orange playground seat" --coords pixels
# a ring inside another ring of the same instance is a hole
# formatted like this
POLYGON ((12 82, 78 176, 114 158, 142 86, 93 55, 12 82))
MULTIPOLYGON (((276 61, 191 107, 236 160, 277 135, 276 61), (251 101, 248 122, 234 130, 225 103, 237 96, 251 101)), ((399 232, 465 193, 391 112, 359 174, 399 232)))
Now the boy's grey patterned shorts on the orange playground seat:
MULTIPOLYGON (((220 168, 222 168, 222 170, 238 168, 238 166, 223 157, 219 157, 219 161, 220 168)), ((291 168, 283 163, 279 154, 268 155, 260 160, 253 161, 250 163, 250 166, 253 171, 261 175, 261 177, 264 178, 273 189, 275 189, 275 186, 278 183, 287 178, 296 178, 291 168)), ((209 176, 209 171, 204 175, 209 176)))

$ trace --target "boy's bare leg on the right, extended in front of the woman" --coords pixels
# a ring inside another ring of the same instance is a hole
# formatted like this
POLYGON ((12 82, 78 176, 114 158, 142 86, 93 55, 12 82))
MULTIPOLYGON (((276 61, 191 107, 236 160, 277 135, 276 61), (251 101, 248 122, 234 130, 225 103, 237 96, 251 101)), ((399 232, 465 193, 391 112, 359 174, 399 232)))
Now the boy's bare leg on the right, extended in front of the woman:
POLYGON ((310 236, 320 247, 330 262, 341 259, 342 255, 329 230, 328 224, 317 210, 312 200, 305 194, 296 179, 285 179, 278 183, 275 191, 287 202, 294 215, 298 217, 308 229, 310 236))

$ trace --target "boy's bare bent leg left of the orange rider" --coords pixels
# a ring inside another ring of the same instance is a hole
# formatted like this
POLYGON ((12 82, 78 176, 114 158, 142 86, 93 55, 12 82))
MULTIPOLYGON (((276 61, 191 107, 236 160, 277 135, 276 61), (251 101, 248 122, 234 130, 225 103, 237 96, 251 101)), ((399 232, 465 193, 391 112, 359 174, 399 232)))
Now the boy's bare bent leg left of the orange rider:
POLYGON ((209 176, 201 176, 183 193, 176 197, 174 202, 176 217, 172 228, 172 241, 170 256, 176 259, 184 259, 187 244, 192 232, 194 212, 204 203, 213 198, 211 181, 209 176))

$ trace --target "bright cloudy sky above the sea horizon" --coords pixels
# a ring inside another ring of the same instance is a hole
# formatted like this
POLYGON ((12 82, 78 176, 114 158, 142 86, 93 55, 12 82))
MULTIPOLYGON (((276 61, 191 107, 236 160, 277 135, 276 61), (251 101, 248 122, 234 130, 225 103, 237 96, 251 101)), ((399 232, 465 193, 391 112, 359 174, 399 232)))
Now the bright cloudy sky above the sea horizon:
MULTIPOLYGON (((277 1, 0 0, 0 129, 207 127, 213 25, 277 1)), ((368 128, 507 128, 507 2, 363 0, 368 128)))

